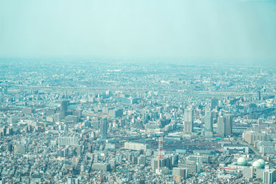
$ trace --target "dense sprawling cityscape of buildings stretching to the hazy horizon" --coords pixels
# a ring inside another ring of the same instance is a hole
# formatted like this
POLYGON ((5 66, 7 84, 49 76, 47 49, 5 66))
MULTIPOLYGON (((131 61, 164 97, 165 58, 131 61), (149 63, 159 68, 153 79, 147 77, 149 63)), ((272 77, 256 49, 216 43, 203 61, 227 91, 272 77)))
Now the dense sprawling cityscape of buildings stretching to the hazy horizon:
POLYGON ((271 66, 0 63, 0 183, 274 183, 271 66))

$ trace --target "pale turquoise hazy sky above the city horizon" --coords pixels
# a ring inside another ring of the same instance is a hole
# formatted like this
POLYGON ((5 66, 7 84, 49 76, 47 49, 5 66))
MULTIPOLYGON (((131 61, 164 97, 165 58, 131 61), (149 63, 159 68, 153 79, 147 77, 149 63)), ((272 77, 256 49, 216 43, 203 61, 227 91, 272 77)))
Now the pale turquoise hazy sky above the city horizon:
POLYGON ((276 0, 1 0, 0 57, 275 61, 276 0))

